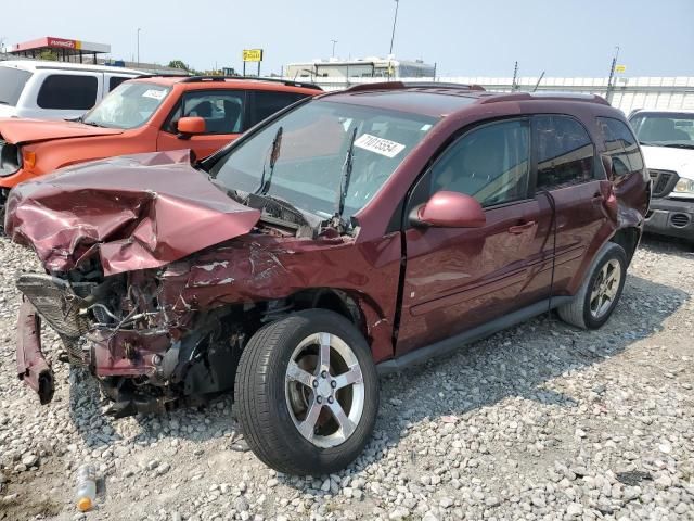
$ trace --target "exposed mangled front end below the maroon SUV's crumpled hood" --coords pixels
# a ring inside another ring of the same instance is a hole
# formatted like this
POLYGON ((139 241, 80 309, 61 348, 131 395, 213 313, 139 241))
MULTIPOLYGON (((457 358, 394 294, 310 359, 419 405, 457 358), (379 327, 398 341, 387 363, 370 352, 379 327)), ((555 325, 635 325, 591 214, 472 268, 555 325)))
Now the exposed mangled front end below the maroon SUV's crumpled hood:
POLYGON ((178 277, 176 265, 103 277, 95 262, 64 276, 21 275, 20 378, 41 403, 50 402, 42 318, 62 339, 69 364, 99 379, 117 417, 202 403, 230 389, 245 338, 239 325, 248 317, 233 317, 243 313, 234 306, 195 313, 180 298, 169 301, 166 288, 177 287, 178 277))

